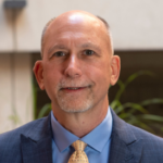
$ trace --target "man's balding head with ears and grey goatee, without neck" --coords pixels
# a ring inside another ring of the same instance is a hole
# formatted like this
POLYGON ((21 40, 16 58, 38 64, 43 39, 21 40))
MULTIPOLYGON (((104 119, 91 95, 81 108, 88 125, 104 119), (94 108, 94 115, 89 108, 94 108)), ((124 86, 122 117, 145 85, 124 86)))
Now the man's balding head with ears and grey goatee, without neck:
POLYGON ((105 24, 84 11, 63 13, 48 24, 34 72, 53 110, 85 112, 108 104, 108 89, 120 74, 111 42, 105 24))

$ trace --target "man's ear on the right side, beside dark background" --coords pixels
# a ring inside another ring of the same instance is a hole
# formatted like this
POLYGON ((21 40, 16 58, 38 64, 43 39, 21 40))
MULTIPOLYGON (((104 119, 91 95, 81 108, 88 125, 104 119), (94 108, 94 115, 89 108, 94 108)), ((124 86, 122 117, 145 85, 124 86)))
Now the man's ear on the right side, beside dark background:
POLYGON ((111 85, 115 85, 121 71, 121 60, 117 55, 111 57, 111 85))

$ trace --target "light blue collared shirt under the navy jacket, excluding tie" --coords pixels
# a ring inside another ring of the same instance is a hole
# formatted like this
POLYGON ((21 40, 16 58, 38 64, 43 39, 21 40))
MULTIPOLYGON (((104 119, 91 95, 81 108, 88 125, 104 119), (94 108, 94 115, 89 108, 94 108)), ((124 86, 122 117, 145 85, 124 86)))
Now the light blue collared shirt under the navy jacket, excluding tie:
POLYGON ((54 117, 51 112, 52 126, 52 162, 67 163, 74 148, 71 146, 76 140, 87 143, 85 152, 89 163, 108 163, 110 156, 111 133, 112 133, 112 115, 110 108, 106 116, 93 130, 78 138, 74 134, 66 130, 54 117))

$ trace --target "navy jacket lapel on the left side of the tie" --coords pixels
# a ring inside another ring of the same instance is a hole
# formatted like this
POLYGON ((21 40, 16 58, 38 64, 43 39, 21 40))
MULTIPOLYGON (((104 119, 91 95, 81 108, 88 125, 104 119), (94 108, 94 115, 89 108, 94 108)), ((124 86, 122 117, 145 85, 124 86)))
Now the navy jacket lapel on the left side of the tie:
POLYGON ((52 163, 52 131, 48 117, 38 120, 26 135, 21 135, 23 163, 52 163))

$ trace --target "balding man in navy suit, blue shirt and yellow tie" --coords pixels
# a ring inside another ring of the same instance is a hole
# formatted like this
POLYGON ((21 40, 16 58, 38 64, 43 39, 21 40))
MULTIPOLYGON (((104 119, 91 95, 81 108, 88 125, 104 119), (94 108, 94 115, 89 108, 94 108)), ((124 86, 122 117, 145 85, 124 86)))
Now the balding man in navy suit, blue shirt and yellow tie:
POLYGON ((0 163, 163 163, 163 140, 109 108, 120 75, 106 23, 70 11, 46 26, 34 67, 52 112, 0 136, 0 163))

